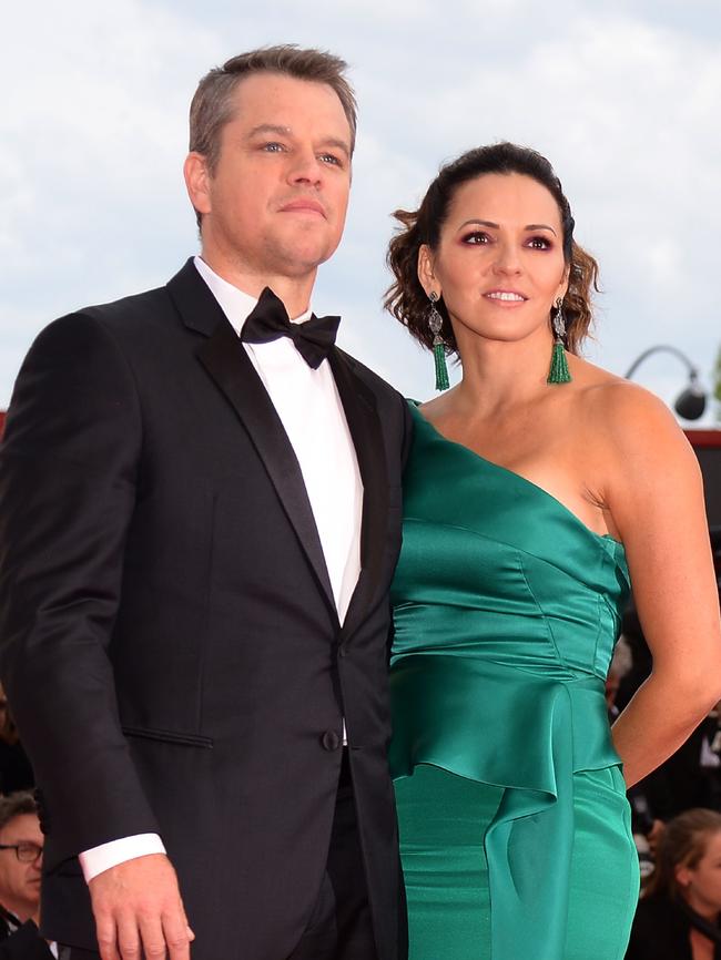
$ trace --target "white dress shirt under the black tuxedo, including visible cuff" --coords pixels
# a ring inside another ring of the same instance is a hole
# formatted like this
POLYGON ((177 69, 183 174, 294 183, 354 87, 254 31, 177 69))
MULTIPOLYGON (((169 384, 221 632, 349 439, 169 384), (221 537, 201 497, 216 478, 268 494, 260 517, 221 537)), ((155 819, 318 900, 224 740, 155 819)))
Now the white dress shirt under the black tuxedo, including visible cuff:
MULTIPOLYGON (((257 299, 229 284, 200 257, 194 263, 240 336, 257 299)), ((309 317, 308 309, 293 323, 309 317)), ((242 344, 242 348, 263 381, 297 457, 343 623, 360 573, 363 483, 331 365, 323 360, 314 370, 288 337, 268 344, 242 344)), ((343 733, 345 743, 345 724, 343 733)), ((156 834, 140 834, 85 850, 80 864, 89 881, 125 860, 164 852, 156 834)))

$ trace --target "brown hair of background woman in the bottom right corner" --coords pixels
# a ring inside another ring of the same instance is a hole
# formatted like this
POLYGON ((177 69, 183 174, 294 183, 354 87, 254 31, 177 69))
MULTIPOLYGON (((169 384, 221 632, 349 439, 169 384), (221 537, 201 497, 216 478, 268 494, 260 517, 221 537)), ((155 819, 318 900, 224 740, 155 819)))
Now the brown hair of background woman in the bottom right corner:
POLYGON ((715 810, 698 807, 669 820, 659 840, 656 870, 646 887, 646 896, 681 897, 676 871, 679 867, 698 867, 713 834, 721 834, 721 814, 715 810))

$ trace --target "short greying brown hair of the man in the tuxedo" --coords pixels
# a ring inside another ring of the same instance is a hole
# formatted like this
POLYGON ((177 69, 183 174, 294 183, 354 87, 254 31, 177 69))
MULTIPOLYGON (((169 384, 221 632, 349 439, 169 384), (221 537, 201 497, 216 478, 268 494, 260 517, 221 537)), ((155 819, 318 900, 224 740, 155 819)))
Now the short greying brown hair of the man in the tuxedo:
POLYGON ((351 126, 351 153, 355 147, 357 104, 344 76, 347 63, 325 50, 301 49, 295 43, 262 47, 231 58, 209 71, 197 84, 191 103, 190 149, 202 153, 214 172, 221 152, 221 133, 233 115, 233 93, 253 73, 283 73, 297 80, 326 83, 343 105, 351 126))

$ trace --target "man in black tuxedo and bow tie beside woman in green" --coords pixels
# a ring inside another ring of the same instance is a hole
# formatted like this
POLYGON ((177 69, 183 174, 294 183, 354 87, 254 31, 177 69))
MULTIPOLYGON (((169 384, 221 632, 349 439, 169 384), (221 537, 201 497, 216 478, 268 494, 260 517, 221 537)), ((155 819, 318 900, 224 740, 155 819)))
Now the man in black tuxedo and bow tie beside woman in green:
POLYGON ((283 47, 211 71, 185 163, 202 258, 57 320, 16 385, 1 675, 69 960, 404 956, 386 667, 408 415, 337 318, 308 318, 351 183, 344 67, 283 47))

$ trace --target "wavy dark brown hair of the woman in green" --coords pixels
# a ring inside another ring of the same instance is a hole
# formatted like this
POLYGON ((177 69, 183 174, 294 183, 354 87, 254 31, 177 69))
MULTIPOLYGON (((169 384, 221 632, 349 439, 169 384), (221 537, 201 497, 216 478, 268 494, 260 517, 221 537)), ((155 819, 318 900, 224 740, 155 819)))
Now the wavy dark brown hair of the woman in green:
MULTIPOLYGON (((394 213, 403 227, 388 246, 388 266, 395 277, 386 293, 384 306, 408 327, 428 349, 433 334, 428 327, 429 302, 418 279, 418 252, 426 244, 437 249, 440 229, 458 187, 486 174, 518 173, 530 176, 551 194, 560 213, 563 229, 563 258, 570 266, 568 292, 563 297, 566 348, 577 354, 587 337, 593 316, 591 289, 598 290, 598 264, 573 239, 573 217, 554 167, 535 150, 515 143, 495 143, 469 150, 443 166, 428 187, 418 210, 394 213)), ((456 338, 441 299, 436 304, 441 317, 441 336, 449 353, 456 353, 456 338)))

